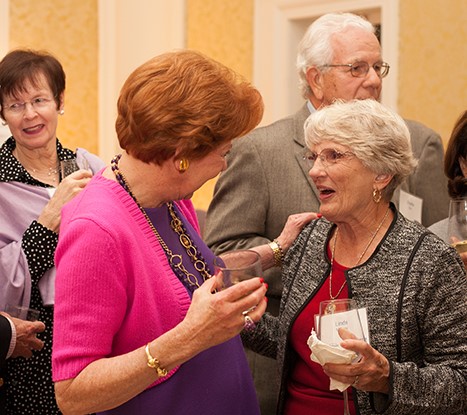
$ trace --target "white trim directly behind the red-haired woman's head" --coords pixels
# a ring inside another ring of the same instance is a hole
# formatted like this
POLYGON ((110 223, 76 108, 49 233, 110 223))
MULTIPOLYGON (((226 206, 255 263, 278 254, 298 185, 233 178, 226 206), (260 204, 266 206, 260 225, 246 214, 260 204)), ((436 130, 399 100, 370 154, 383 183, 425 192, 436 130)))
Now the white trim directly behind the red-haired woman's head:
POLYGON ((148 59, 185 46, 185 0, 99 0, 99 155, 119 151, 117 98, 148 59))

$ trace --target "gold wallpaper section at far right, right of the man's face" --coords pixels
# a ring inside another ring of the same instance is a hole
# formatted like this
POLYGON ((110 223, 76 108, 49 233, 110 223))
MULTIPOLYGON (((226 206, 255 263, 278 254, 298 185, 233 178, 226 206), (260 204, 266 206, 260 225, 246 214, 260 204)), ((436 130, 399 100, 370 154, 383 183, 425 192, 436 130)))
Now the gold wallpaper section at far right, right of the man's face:
POLYGON ((467 109, 467 2, 401 0, 399 113, 445 143, 467 109))

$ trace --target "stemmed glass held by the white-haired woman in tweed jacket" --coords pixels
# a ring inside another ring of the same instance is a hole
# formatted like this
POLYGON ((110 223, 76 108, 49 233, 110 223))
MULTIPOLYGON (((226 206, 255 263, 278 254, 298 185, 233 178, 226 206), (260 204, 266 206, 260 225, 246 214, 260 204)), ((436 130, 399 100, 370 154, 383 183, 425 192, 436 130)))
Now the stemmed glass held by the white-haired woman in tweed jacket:
MULTIPOLYGON (((340 347, 342 338, 339 336, 339 328, 345 328, 357 339, 365 340, 357 303, 351 298, 322 301, 319 304, 318 338, 333 347, 340 347)), ((360 356, 355 355, 352 363, 358 360, 360 356)), ((347 389, 344 390, 343 395, 344 415, 350 415, 347 389)))

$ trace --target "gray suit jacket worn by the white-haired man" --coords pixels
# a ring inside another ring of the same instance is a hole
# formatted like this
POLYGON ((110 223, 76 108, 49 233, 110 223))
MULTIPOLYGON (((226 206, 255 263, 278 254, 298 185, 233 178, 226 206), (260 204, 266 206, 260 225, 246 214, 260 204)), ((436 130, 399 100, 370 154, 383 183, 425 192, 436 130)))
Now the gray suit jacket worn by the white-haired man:
MULTIPOLYGON (((309 115, 304 105, 296 114, 235 140, 206 218, 205 240, 215 252, 267 243, 280 234, 289 215, 318 211, 318 192, 303 160, 303 124, 309 115)), ((429 226, 448 215, 443 145, 433 130, 406 122, 419 164, 401 187, 423 199, 422 222, 429 226)), ((398 206, 399 189, 393 200, 398 206)), ((268 274, 268 295, 280 296, 280 271, 268 274)))

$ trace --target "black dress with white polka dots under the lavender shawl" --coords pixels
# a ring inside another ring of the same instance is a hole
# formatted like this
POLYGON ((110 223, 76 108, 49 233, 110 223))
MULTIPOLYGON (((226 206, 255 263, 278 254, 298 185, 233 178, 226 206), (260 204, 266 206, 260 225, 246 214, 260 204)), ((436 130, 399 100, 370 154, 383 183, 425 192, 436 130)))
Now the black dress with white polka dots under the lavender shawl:
MULTIPOLYGON (((16 143, 9 138, 0 148, 0 181, 18 181, 34 186, 49 187, 34 179, 12 155, 16 143)), ((74 158, 71 150, 64 149, 57 140, 60 160, 74 158)), ((18 206, 18 209, 21 207, 18 206)), ((45 307, 38 283, 44 273, 54 266, 54 253, 58 235, 36 221, 24 230, 21 246, 26 255, 31 275, 30 307, 40 311, 40 320, 46 330, 38 335, 44 348, 34 352, 33 357, 8 359, 5 368, 5 415, 50 415, 61 414, 55 402, 52 383, 52 330, 53 307, 45 307)))

